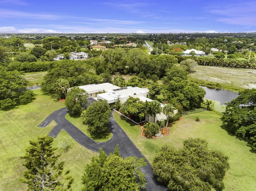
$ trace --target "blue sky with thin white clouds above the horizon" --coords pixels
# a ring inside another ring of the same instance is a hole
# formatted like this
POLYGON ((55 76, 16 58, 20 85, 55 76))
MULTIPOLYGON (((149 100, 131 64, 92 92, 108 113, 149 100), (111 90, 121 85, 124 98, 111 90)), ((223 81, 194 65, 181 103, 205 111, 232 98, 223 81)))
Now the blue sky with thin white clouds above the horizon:
POLYGON ((0 33, 256 32, 255 0, 0 0, 0 33))

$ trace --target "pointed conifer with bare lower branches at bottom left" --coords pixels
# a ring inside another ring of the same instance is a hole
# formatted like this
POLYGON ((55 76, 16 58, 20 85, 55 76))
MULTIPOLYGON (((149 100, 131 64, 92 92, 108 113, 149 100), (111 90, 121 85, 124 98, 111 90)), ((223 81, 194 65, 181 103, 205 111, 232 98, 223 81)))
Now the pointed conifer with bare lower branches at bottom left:
POLYGON ((54 138, 40 136, 36 141, 31 140, 26 149, 23 165, 27 170, 23 173, 22 183, 28 185, 28 191, 70 190, 73 178, 64 173, 64 162, 58 162, 60 155, 55 155, 52 148, 54 138), (62 175, 64 174, 64 175, 62 175))

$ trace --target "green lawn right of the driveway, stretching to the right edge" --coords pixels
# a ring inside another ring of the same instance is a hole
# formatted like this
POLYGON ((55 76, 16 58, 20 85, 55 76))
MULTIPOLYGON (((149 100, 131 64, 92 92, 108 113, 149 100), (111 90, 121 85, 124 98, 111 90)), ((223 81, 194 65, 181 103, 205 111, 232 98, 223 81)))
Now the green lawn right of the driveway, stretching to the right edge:
POLYGON ((204 138, 210 149, 220 150, 229 157, 230 169, 224 177, 226 191, 249 191, 256 187, 256 154, 250 152, 246 142, 222 129, 220 115, 214 112, 183 116, 182 120, 170 127, 168 136, 154 139, 142 138, 140 128, 128 120, 122 120, 120 114, 115 112, 114 117, 150 163, 164 144, 179 148, 188 137, 204 138), (196 122, 196 116, 200 122, 196 122))

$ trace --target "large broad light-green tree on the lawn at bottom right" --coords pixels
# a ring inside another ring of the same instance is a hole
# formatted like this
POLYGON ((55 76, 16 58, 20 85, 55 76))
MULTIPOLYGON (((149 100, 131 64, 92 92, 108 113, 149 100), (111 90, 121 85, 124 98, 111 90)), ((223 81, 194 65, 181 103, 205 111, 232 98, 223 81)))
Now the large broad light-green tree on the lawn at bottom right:
POLYGON ((189 138, 183 145, 178 150, 165 145, 155 156, 152 168, 157 180, 171 191, 222 191, 228 157, 209 150, 206 140, 200 138, 189 138))

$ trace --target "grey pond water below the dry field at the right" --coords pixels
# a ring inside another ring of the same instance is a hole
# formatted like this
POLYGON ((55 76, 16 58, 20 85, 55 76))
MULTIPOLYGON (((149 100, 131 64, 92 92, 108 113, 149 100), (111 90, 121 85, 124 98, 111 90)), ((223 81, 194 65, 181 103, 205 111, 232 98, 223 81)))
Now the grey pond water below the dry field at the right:
POLYGON ((205 86, 201 87, 206 91, 204 98, 219 101, 220 105, 224 105, 224 103, 230 102, 238 97, 238 93, 236 92, 216 88, 208 88, 205 86))

